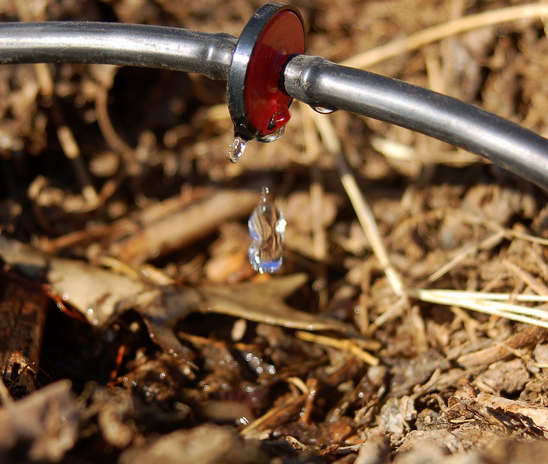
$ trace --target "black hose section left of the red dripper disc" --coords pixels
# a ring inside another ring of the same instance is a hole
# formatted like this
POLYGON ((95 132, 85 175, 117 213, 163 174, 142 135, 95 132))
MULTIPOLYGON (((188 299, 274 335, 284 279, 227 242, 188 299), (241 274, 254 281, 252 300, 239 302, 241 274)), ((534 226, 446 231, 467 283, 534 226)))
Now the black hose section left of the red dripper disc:
POLYGON ((118 64, 226 80, 237 40, 229 34, 138 24, 1 23, 0 64, 118 64))

